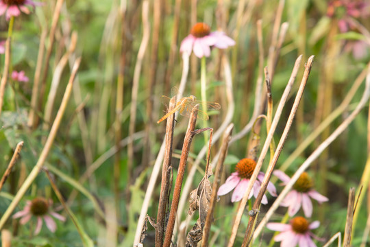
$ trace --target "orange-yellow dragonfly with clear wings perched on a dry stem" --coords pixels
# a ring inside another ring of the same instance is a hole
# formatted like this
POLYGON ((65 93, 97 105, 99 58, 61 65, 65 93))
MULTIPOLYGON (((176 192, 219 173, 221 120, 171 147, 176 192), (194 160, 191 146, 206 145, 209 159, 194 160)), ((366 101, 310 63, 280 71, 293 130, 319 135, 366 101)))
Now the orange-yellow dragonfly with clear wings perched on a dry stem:
MULTIPOLYGON (((169 102, 171 98, 162 95, 162 99, 164 102, 169 102)), ((199 104, 199 107, 201 107, 203 110, 198 110, 198 118, 208 120, 208 115, 204 110, 219 110, 221 108, 219 103, 216 102, 201 102, 197 100, 197 97, 194 95, 190 95, 189 97, 183 97, 180 99, 177 103, 175 108, 170 110, 166 115, 161 117, 157 124, 159 124, 164 119, 167 119, 167 117, 171 116, 173 113, 175 113, 177 110, 180 110, 180 115, 190 117, 191 111, 193 110, 193 107, 195 105, 199 104)))

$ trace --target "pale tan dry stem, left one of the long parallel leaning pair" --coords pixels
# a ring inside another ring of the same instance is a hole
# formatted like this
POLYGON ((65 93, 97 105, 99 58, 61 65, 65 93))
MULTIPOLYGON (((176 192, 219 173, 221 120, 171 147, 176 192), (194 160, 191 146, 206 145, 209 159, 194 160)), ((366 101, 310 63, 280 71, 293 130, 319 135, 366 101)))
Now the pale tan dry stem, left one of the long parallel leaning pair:
POLYGON ((238 228, 239 228, 239 224, 240 224, 240 221, 241 221, 241 217, 243 216, 245 206, 247 205, 249 193, 250 193, 251 188, 253 187, 254 182, 256 181, 257 175, 260 172, 260 169, 262 167, 264 157, 267 154, 267 150, 269 149, 269 145, 270 145, 271 140, 273 138, 273 133, 275 132, 277 123, 278 123, 278 121, 280 119, 280 116, 282 114, 282 109, 284 108, 286 99, 288 99, 288 95, 291 92, 293 82, 295 81, 295 77, 297 76, 300 62, 301 62, 301 56, 299 56, 297 58, 297 60, 295 60, 295 65, 294 65, 294 68, 293 68, 293 71, 292 71, 292 74, 291 74, 291 78, 289 79, 288 84, 286 85, 286 88, 285 88, 284 93, 282 95, 282 98, 280 99, 280 103, 277 106, 275 117, 273 118, 273 122, 271 124, 271 129, 269 131, 269 134, 267 135, 266 141, 264 142, 262 151, 260 153, 260 157, 258 158, 256 167, 255 167, 254 172, 253 172, 253 174, 250 178, 248 187, 245 190, 243 199, 241 200, 240 205, 238 207, 238 211, 236 213, 236 218, 235 218, 235 221, 234 221, 234 224, 233 224, 233 227, 232 227, 232 234, 231 234, 230 239, 229 239, 229 244, 228 244, 229 247, 234 246, 236 234, 238 233, 238 228))

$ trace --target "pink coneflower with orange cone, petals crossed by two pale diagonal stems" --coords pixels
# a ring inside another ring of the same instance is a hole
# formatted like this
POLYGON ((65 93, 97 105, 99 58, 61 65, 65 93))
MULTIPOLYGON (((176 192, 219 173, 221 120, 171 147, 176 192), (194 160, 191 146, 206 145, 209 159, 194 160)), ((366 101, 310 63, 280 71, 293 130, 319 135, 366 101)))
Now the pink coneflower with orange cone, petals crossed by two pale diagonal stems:
MULTIPOLYGON (((254 168, 256 167, 256 161, 251 158, 243 158, 236 164, 236 172, 233 172, 230 177, 227 178, 226 182, 221 185, 219 191, 217 192, 217 196, 223 196, 234 189, 234 193, 232 193, 232 202, 238 202, 244 196, 245 190, 249 185, 249 178, 251 178, 254 168)), ((253 185, 251 193, 249 193, 249 199, 254 196, 257 198, 258 192, 260 191, 261 182, 264 178, 264 173, 260 172, 257 176, 258 180, 253 185)), ((271 196, 276 195, 275 186, 269 182, 267 185, 267 191, 271 194, 271 196)), ((267 204, 267 196, 264 195, 262 198, 262 204, 267 204)))

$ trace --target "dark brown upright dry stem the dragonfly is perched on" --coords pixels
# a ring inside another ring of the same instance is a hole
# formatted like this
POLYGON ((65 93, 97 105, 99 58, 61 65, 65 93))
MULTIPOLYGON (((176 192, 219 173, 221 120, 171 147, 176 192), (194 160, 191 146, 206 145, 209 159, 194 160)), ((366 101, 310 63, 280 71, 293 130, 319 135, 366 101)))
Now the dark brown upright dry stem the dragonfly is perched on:
MULTIPOLYGON (((172 110, 176 104, 176 97, 172 97, 169 110, 172 110)), ((175 127, 175 114, 167 118, 166 126, 166 150, 164 151, 164 161, 162 167, 162 183, 160 186, 160 199, 158 203, 157 224, 156 224, 156 247, 163 244, 164 226, 166 223, 167 202, 169 202, 169 192, 171 190, 170 177, 172 173, 172 143, 173 128, 175 127)))

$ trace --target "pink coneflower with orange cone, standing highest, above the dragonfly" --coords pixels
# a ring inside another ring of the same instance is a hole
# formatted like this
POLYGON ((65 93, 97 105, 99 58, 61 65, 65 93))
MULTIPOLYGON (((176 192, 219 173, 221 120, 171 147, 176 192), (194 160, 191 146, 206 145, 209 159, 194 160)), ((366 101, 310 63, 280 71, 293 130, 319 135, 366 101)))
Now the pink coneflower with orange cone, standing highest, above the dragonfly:
POLYGON ((182 40, 180 51, 191 54, 194 51, 195 56, 202 58, 210 56, 210 47, 226 49, 235 45, 235 41, 226 36, 224 32, 210 32, 210 26, 206 23, 195 24, 188 36, 182 40))

